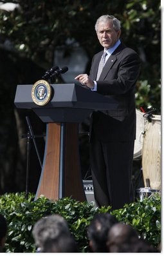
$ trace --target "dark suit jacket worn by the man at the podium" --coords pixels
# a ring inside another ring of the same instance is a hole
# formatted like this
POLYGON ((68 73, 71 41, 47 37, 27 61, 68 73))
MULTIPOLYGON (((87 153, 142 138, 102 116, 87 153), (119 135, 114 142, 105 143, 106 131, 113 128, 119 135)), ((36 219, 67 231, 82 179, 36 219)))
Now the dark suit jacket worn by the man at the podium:
MULTIPOLYGON (((96 81, 103 51, 93 57, 89 77, 96 81)), ((97 82, 97 92, 118 102, 117 110, 93 112, 90 134, 101 141, 129 141, 136 135, 135 85, 140 73, 138 54, 122 43, 105 63, 97 82)))

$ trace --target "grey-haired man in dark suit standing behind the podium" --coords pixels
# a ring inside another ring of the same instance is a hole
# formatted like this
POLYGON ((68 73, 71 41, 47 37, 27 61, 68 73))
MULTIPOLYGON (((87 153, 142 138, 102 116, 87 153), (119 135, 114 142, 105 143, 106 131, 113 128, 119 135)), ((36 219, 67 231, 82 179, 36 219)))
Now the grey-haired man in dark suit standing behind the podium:
POLYGON ((112 97, 117 110, 93 112, 90 127, 90 161, 96 204, 122 208, 134 201, 132 161, 136 136, 135 84, 140 59, 120 41, 120 21, 103 15, 95 25, 104 47, 93 57, 90 74, 75 79, 93 93, 112 97))

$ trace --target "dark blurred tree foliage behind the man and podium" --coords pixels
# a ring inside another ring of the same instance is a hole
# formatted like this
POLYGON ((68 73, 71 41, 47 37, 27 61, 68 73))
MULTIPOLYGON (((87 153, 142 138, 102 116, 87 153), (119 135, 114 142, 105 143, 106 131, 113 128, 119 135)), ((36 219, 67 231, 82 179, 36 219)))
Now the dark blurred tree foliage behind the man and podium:
MULTIPOLYGON (((23 191, 26 183, 25 115, 29 115, 35 134, 45 133, 45 124, 30 110, 14 106, 17 84, 33 84, 53 66, 54 51, 64 47, 71 54, 78 42, 89 59, 101 50, 96 39, 95 22, 110 14, 122 23, 122 42, 136 50, 141 59, 141 73, 136 84, 136 108, 149 106, 161 112, 161 6, 151 0, 15 0, 16 8, 5 10, 8 1, 0 2, 0 193, 23 191), (69 43, 68 44, 68 39, 69 43)), ((68 66, 69 67, 69 66, 68 66)), ((60 81, 59 81, 60 82, 60 81)), ((83 123, 86 131, 88 123, 83 123)), ((83 172, 87 172, 87 138, 81 139, 83 172)), ((37 144, 44 154, 44 139, 37 144)), ((35 149, 30 152, 30 192, 35 192, 41 173, 35 149)))

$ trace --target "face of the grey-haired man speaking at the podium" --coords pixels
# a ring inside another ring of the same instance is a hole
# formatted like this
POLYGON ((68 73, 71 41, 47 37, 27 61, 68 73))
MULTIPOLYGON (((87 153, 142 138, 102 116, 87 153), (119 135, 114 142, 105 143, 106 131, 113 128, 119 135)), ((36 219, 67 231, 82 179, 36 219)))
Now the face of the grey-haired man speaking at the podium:
POLYGON ((105 49, 111 48, 120 38, 121 30, 116 32, 113 28, 113 21, 99 22, 98 30, 96 32, 100 44, 105 49))

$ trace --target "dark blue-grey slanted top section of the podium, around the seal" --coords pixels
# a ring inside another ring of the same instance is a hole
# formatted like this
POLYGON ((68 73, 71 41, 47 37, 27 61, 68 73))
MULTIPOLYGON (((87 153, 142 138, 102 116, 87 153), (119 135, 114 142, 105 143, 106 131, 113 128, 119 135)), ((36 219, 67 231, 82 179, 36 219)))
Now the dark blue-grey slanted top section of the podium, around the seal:
POLYGON ((116 110, 118 103, 110 96, 91 92, 77 84, 51 84, 52 95, 48 104, 39 106, 32 99, 33 84, 18 84, 15 94, 17 108, 84 108, 116 110))

